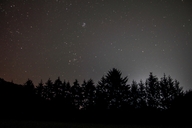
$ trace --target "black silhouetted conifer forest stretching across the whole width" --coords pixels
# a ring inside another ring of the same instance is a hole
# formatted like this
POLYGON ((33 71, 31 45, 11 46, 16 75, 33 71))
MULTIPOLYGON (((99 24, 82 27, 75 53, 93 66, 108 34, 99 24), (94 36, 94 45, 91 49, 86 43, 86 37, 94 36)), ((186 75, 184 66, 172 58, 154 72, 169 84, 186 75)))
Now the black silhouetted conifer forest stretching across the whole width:
POLYGON ((34 86, 0 79, 0 117, 84 122, 185 123, 192 115, 192 91, 184 91, 170 76, 132 81, 111 69, 95 84, 48 79, 34 86))

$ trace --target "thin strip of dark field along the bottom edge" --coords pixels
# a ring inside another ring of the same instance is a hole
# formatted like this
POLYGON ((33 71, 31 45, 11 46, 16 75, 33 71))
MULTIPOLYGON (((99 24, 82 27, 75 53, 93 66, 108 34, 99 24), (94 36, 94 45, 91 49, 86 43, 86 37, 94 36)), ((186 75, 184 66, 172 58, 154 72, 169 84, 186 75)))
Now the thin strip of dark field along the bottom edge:
POLYGON ((17 121, 0 120, 0 128, 190 128, 189 126, 170 125, 128 125, 128 124, 96 124, 72 122, 17 121))

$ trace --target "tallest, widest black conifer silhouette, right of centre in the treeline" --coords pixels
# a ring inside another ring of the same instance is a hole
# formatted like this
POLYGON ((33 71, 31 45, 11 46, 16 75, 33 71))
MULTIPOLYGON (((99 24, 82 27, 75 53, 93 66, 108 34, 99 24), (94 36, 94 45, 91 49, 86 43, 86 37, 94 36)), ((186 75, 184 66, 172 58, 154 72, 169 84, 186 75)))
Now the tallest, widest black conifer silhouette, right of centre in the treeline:
POLYGON ((122 73, 119 70, 113 68, 98 83, 97 98, 105 105, 105 109, 119 109, 125 100, 123 91, 127 86, 128 79, 121 75, 122 73))

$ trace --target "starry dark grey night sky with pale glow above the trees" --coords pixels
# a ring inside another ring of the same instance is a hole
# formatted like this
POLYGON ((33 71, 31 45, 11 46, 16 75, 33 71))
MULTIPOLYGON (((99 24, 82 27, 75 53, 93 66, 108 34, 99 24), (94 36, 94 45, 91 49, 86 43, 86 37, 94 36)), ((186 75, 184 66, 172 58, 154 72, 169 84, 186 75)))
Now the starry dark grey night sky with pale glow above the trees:
POLYGON ((0 77, 95 83, 111 68, 192 88, 191 0, 1 0, 0 77))

